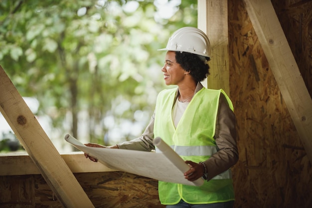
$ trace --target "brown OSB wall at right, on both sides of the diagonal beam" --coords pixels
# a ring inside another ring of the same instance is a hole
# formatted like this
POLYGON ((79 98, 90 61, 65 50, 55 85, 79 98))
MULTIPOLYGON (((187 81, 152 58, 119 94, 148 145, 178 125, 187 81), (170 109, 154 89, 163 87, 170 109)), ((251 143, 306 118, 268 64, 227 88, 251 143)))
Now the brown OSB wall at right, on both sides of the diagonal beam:
MULTIPOLYGON (((290 8, 283 7, 290 2, 274 1, 279 2, 274 5, 280 6, 276 10, 280 11, 282 27, 287 25, 292 33, 288 39, 298 39, 298 24, 302 24, 301 35, 305 37, 300 40, 301 48, 291 45, 305 81, 311 86, 312 4, 290 8), (297 21, 297 17, 301 20, 297 21)), ((240 156, 232 170, 235 208, 311 208, 311 163, 243 0, 229 0, 228 9, 230 97, 237 117, 240 156)))

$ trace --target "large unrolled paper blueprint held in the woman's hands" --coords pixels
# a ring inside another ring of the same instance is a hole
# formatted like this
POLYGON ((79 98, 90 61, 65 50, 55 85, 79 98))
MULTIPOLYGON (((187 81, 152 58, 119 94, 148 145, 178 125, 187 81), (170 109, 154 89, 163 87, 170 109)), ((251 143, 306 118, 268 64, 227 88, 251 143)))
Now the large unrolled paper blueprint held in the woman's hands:
POLYGON ((184 179, 183 173, 189 166, 160 138, 155 140, 156 146, 162 151, 159 153, 87 147, 69 134, 65 135, 65 140, 113 170, 189 186, 201 186, 204 183, 202 178, 192 182, 184 179))

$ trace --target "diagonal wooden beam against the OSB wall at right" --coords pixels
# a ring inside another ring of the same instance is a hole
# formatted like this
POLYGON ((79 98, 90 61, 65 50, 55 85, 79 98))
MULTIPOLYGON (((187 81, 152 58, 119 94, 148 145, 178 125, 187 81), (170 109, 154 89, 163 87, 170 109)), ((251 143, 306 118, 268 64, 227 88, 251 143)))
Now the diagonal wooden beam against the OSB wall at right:
POLYGON ((270 0, 244 0, 285 104, 312 162, 312 99, 270 0))

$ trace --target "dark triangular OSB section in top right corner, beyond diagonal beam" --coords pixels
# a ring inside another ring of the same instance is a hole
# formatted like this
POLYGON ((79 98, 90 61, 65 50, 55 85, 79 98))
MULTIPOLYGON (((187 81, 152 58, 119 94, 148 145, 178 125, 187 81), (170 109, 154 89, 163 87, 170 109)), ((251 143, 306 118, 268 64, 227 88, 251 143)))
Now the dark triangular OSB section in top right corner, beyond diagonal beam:
POLYGON ((312 96, 312 2, 274 0, 272 3, 312 96))

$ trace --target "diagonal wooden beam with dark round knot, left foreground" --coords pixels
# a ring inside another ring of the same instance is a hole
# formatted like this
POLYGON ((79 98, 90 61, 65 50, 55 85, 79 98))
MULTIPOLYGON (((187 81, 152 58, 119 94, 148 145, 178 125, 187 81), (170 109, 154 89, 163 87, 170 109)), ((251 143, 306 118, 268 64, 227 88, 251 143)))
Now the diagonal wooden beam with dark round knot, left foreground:
POLYGON ((61 204, 94 207, 1 66, 0 111, 61 204))

